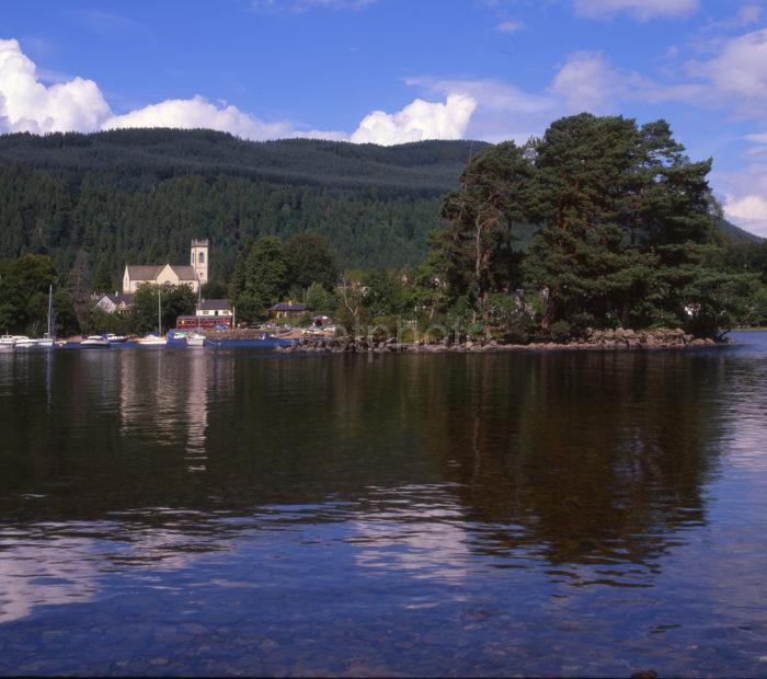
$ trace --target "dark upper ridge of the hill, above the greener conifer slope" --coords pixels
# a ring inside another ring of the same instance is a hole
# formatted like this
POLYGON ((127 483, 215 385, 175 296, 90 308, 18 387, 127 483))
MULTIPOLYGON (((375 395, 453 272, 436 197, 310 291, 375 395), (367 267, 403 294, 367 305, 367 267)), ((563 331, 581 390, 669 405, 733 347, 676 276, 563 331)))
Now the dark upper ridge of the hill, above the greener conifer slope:
POLYGON ((445 193, 455 187, 482 141, 420 141, 393 147, 317 139, 247 141, 207 129, 119 129, 44 137, 0 136, 0 158, 35 168, 153 173, 226 174, 323 188, 445 193))

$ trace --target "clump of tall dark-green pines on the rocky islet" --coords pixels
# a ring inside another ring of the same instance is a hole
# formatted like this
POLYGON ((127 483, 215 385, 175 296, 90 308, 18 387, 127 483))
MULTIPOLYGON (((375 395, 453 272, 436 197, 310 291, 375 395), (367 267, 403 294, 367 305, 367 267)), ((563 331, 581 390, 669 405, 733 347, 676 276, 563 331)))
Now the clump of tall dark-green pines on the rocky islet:
POLYGON ((435 240, 448 309, 518 338, 663 325, 717 336, 743 322, 763 272, 726 264, 711 163, 690 160, 664 120, 591 114, 481 151, 435 240), (539 225, 525 252, 519 222, 539 225))

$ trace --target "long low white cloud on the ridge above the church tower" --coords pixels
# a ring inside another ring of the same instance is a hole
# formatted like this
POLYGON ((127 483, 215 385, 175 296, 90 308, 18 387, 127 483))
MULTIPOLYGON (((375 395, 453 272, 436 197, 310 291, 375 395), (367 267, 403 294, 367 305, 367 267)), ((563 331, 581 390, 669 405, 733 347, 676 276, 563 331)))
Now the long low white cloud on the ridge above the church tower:
POLYGON ((171 99, 125 115, 111 116, 102 127, 204 127, 231 133, 244 139, 287 137, 293 131, 287 123, 264 123, 237 106, 219 107, 199 95, 193 99, 171 99))

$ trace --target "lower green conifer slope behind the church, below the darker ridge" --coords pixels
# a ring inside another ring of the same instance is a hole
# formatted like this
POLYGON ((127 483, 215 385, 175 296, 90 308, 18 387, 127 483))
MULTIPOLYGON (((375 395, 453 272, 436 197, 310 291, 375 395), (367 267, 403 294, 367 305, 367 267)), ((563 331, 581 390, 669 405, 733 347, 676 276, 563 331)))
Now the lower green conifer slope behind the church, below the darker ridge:
POLYGON ((193 238, 215 248, 211 275, 227 277, 243 243, 260 235, 316 231, 363 267, 417 262, 438 225, 436 196, 332 195, 241 177, 179 176, 153 191, 119 188, 119 177, 0 169, 0 255, 50 254, 59 267, 79 251, 91 271, 107 268, 116 285, 129 263, 184 263, 193 238))

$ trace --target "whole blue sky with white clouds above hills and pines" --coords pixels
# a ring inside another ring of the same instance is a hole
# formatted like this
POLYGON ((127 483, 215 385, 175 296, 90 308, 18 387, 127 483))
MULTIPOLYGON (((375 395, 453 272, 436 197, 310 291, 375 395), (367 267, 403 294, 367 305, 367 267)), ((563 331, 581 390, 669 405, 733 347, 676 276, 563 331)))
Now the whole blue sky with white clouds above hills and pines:
POLYGON ((7 0, 0 131, 524 140, 664 117, 767 235, 767 0, 7 0))

